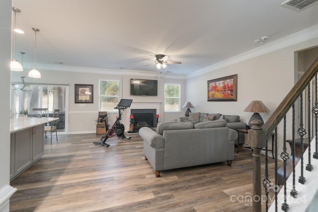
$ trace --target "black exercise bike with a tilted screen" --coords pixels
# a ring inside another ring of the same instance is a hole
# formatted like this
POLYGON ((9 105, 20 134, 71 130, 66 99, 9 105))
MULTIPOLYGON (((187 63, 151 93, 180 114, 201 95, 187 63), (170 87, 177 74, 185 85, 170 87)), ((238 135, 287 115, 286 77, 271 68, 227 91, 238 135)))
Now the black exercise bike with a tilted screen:
POLYGON ((118 116, 111 128, 109 128, 109 125, 105 119, 107 114, 105 115, 99 115, 98 117, 101 118, 99 122, 104 122, 105 123, 105 128, 106 128, 106 135, 100 139, 102 142, 93 142, 95 145, 102 145, 102 146, 110 146, 108 143, 106 143, 106 140, 108 138, 112 138, 113 136, 117 136, 118 138, 121 137, 122 139, 131 139, 131 137, 126 137, 125 136, 125 126, 120 123, 120 120, 122 119, 122 114, 123 110, 127 109, 130 107, 132 103, 132 99, 121 99, 116 107, 114 109, 118 109, 118 116))

